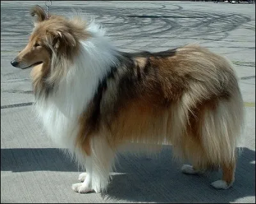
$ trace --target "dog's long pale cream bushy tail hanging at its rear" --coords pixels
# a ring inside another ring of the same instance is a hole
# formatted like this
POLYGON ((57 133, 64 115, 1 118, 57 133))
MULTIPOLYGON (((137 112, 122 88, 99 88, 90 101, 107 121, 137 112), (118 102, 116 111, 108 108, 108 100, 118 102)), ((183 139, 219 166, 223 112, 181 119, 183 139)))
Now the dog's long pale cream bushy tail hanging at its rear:
POLYGON ((215 110, 205 110, 202 145, 212 164, 236 161, 236 147, 243 129, 243 99, 239 89, 228 99, 218 101, 215 110))

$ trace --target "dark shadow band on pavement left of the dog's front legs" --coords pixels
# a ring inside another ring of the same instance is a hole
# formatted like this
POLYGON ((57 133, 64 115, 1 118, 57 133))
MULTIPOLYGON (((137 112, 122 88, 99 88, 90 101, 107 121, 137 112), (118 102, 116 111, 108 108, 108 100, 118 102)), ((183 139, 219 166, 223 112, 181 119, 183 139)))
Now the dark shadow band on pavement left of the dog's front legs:
POLYGON ((1 149, 1 171, 76 171, 77 166, 56 148, 1 149))

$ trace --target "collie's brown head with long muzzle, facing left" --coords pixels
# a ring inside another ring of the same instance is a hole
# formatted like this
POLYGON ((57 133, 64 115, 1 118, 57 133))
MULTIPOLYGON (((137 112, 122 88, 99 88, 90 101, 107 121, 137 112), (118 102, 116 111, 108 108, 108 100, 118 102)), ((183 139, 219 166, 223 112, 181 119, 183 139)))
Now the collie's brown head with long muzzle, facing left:
POLYGON ((35 27, 28 45, 12 60, 14 67, 51 66, 52 56, 71 58, 77 50, 78 40, 88 37, 84 32, 85 24, 55 15, 47 17, 38 5, 31 9, 31 16, 35 16, 35 27))

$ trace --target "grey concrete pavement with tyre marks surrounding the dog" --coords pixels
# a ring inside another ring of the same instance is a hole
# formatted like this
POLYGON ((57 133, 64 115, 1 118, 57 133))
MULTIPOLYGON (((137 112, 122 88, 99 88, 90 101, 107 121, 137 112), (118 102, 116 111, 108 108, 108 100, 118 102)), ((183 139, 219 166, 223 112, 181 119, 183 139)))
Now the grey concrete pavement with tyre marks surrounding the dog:
POLYGON ((31 109, 29 70, 11 59, 32 29, 29 6, 44 1, 1 1, 1 203, 255 203, 255 4, 191 1, 53 1, 94 15, 121 50, 159 51, 199 42, 236 64, 246 108, 243 154, 227 191, 209 184, 221 176, 180 173, 166 147, 158 157, 120 156, 108 194, 78 194, 76 165, 45 135, 31 109))

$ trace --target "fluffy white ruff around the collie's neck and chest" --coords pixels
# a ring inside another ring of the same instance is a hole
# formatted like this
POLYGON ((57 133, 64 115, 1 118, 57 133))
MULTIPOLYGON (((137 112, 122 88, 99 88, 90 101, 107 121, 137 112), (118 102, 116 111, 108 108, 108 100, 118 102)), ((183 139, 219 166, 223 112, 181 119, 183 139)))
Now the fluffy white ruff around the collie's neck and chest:
POLYGON ((116 61, 115 48, 104 38, 104 31, 93 23, 88 25, 87 31, 92 38, 80 42, 79 54, 58 89, 45 101, 36 101, 36 110, 47 134, 72 154, 79 154, 75 149, 79 129, 77 119, 97 91, 99 80, 107 75, 116 61))

